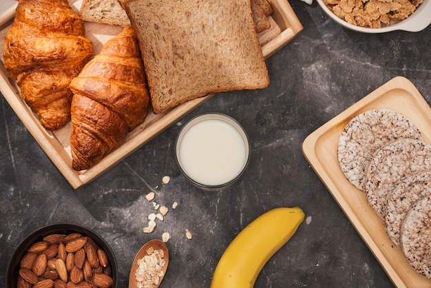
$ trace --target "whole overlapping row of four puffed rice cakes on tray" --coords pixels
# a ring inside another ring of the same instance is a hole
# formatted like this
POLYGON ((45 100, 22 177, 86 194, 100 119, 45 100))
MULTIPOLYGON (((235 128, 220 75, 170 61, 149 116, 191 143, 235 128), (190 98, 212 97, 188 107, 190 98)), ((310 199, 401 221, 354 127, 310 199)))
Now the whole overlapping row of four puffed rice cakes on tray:
POLYGON ((341 133, 338 161, 410 265, 431 278, 431 145, 414 123, 388 109, 361 113, 341 133))

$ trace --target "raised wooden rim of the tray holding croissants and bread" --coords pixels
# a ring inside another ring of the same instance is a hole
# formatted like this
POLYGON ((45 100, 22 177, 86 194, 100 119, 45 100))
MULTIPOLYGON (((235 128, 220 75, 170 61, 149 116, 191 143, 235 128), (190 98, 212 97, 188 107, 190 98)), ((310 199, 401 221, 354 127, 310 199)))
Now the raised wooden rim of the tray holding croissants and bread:
MULTIPOLYGON (((279 9, 277 12, 282 12, 281 16, 283 21, 285 21, 283 25, 289 27, 282 31, 280 35, 268 43, 262 45, 262 54, 265 58, 269 58, 269 56, 273 55, 275 52, 277 52, 277 50, 280 50, 284 45, 291 41, 299 31, 302 30, 302 25, 299 22, 299 19, 297 19, 296 14, 293 12, 293 9, 291 8, 288 1, 270 0, 270 2, 272 5, 275 5, 277 9, 279 9)), ((0 14, 0 28, 4 29, 1 26, 12 21, 16 8, 17 4, 0 14)), ((130 142, 127 141, 126 143, 123 143, 123 145, 118 147, 117 150, 114 150, 114 152, 106 156, 103 161, 101 161, 101 163, 98 163, 96 166, 84 172, 76 172, 71 167, 70 159, 67 159, 67 157, 65 158, 63 155, 61 155, 63 154, 63 151, 57 151, 59 150, 59 145, 61 146, 61 150, 65 150, 66 147, 63 147, 59 141, 56 141, 55 136, 52 136, 51 132, 44 130, 39 121, 36 123, 36 121, 34 121, 34 115, 30 114, 30 111, 25 109, 23 105, 21 105, 20 101, 17 101, 17 99, 21 99, 21 96, 14 92, 14 89, 8 80, 8 74, 4 68, 3 62, 1 62, 0 74, 0 91, 5 97, 6 101, 8 101, 25 127, 27 127, 30 134, 32 134, 32 136, 35 138, 36 142, 41 146, 45 154, 48 155, 50 160, 54 163, 54 165, 56 165, 57 169, 59 169, 61 174, 63 174, 63 176, 74 189, 89 183, 90 181, 94 180, 94 178, 103 174, 103 172, 107 171, 107 169, 113 167, 116 165, 116 163, 132 154, 132 152, 137 150, 142 145, 145 145, 145 143, 165 130, 172 123, 178 121, 178 119, 180 119, 182 116, 185 116, 187 113, 191 112, 196 107, 204 103, 204 101, 207 101, 207 99, 213 96, 205 96, 174 108, 174 110, 171 110, 165 115, 161 116, 160 119, 156 121, 156 123, 152 123, 146 127, 145 133, 141 132, 134 138, 131 138, 129 140, 130 142), (48 134, 50 136, 47 136, 48 134)))

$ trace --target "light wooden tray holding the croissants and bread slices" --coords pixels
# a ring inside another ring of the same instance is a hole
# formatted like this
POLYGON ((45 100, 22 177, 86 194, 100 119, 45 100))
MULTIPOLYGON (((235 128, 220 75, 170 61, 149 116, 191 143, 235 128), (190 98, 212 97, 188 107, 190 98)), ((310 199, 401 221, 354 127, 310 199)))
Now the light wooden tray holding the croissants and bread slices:
MULTIPOLYGON (((293 12, 290 4, 286 0, 269 0, 273 7, 274 13, 269 17, 271 28, 261 32, 259 41, 262 47, 262 53, 267 58, 277 52, 286 43, 291 41, 297 33, 302 30, 302 25, 293 12)), ((76 12, 81 7, 82 0, 70 0, 70 5, 76 12)), ((49 132, 39 123, 37 116, 30 110, 19 94, 16 83, 8 79, 8 74, 3 64, 3 43, 4 37, 10 24, 13 21, 14 12, 17 5, 0 14, 0 91, 6 98, 14 112, 17 113, 25 127, 30 131, 43 151, 50 157, 60 172, 65 176, 70 185, 75 189, 81 187, 97 176, 101 175, 107 169, 116 165, 123 158, 137 150, 151 140, 154 136, 165 130, 169 125, 181 119, 188 112, 198 107, 204 101, 213 95, 208 95, 200 99, 184 103, 165 114, 155 115, 151 111, 145 119, 145 123, 138 126, 134 131, 129 133, 123 145, 118 147, 114 152, 106 156, 101 163, 98 163, 91 169, 76 172, 72 169, 72 157, 70 155, 70 130, 71 124, 57 130, 49 132)), ((114 25, 105 25, 98 23, 85 23, 87 37, 94 43, 94 54, 97 54, 106 41, 118 34, 123 28, 114 25)))

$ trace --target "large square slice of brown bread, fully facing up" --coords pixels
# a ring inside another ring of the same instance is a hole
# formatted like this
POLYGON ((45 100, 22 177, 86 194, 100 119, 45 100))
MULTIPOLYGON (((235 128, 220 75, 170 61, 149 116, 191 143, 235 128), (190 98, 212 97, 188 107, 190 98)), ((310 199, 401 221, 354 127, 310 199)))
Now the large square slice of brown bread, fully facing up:
POLYGON ((269 86, 250 0, 120 0, 138 35, 153 111, 269 86))

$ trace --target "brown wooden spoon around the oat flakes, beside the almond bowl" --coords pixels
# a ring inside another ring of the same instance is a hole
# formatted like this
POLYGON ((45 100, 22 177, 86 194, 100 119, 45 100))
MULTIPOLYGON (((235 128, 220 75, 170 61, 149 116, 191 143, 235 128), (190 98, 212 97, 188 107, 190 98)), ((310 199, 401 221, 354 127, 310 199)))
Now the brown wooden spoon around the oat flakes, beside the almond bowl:
POLYGON ((142 258, 144 258, 144 256, 148 255, 147 250, 149 249, 149 247, 153 247, 154 250, 162 250, 163 251, 163 259, 165 260, 165 266, 162 267, 163 276, 160 277, 158 285, 154 285, 154 288, 159 287, 160 283, 163 280, 163 277, 165 277, 167 265, 169 263, 169 252, 167 250, 165 243, 163 243, 163 241, 158 240, 158 239, 154 239, 154 240, 151 240, 151 241, 145 243, 145 245, 143 245, 143 247, 141 247, 140 250, 138 251, 138 254, 136 254, 135 260, 133 261, 133 264, 132 264, 132 269, 130 269, 129 288, 137 288, 138 287, 138 281, 136 280, 136 276, 135 276, 136 269, 138 269, 138 260, 142 259, 142 258))

